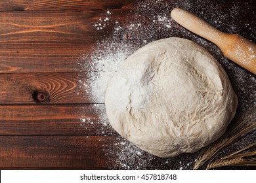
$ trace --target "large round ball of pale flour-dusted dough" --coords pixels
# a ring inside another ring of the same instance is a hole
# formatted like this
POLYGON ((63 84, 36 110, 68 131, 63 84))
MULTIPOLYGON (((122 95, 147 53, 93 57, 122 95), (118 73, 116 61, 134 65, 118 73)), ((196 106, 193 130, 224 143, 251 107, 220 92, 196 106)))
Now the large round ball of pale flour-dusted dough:
POLYGON ((173 157, 223 135, 238 101, 213 56, 192 41, 169 38, 125 60, 108 84, 105 103, 122 137, 156 156, 173 157))

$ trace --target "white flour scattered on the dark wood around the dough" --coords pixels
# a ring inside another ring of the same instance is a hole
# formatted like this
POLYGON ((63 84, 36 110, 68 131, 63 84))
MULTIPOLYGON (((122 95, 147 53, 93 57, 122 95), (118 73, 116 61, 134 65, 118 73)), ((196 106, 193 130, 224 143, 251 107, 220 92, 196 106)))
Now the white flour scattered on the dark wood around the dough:
MULTIPOLYGON (((241 93, 238 97, 240 98, 242 112, 250 107, 246 106, 247 101, 255 101, 254 103, 256 103, 256 92, 248 93, 243 87, 245 81, 255 84, 255 76, 252 75, 248 78, 243 69, 223 57, 217 46, 190 33, 171 20, 170 12, 175 7, 184 8, 197 14, 209 24, 220 28, 221 31, 243 34, 241 28, 236 25, 237 18, 242 16, 242 10, 235 3, 230 7, 229 12, 225 10, 225 13, 223 13, 219 8, 219 3, 210 0, 179 2, 147 0, 137 3, 135 10, 128 16, 129 22, 125 23, 120 22, 111 10, 106 10, 104 16, 95 21, 93 28, 102 37, 104 37, 105 29, 112 29, 112 35, 98 41, 95 52, 89 57, 84 57, 84 59, 90 60, 90 65, 85 66, 85 71, 91 71, 89 73, 89 83, 84 84, 84 86, 87 93, 91 94, 91 103, 104 103, 104 93, 108 80, 129 55, 148 42, 167 37, 190 39, 213 54, 232 76, 231 82, 235 86, 235 92, 241 93)), ((249 8, 249 5, 247 5, 247 8, 249 8)), ((249 25, 246 26, 249 27, 249 25)), ((255 27, 250 29, 251 32, 255 31, 255 27)), ((255 39, 255 34, 249 36, 251 37, 247 37, 248 39, 255 39)), ((83 65, 82 62, 80 61, 80 67, 83 65)), ((106 112, 102 107, 104 105, 94 105, 102 121, 102 127, 96 134, 105 134, 105 129, 111 128, 108 124, 106 112)), ((89 125, 95 125, 92 124, 92 119, 83 115, 81 115, 80 124, 85 128, 89 125)), ((112 133, 109 135, 112 135, 112 133)), ((182 158, 178 156, 177 158, 159 159, 139 150, 139 148, 118 136, 116 143, 111 148, 104 148, 106 157, 109 159, 108 166, 110 169, 161 169, 161 166, 166 165, 170 165, 173 169, 191 169, 194 165, 194 159, 197 157, 197 154, 184 154, 182 158)))

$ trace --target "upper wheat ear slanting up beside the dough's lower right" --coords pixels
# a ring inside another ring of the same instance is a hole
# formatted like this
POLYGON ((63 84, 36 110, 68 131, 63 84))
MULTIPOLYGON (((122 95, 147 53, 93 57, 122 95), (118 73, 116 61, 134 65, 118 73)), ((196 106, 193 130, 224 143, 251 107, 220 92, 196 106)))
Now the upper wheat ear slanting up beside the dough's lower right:
MULTIPOLYGON (((243 114, 235 123, 230 127, 226 133, 217 141, 213 142, 204 148, 193 169, 199 169, 206 161, 215 156, 220 150, 234 142, 238 137, 241 137, 247 131, 256 127, 256 106, 252 107, 248 112, 243 114)), ((234 161, 238 159, 234 159, 234 161)))

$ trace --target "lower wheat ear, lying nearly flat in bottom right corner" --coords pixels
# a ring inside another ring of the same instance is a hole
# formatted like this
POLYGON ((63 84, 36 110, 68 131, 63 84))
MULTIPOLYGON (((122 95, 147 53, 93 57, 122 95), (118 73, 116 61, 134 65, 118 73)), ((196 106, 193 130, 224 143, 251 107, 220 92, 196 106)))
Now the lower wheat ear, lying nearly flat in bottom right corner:
POLYGON ((243 154, 239 154, 240 152, 243 152, 244 150, 247 150, 253 146, 256 146, 256 142, 253 144, 250 144, 249 146, 246 146, 242 150, 238 150, 237 152, 234 152, 233 154, 230 154, 228 156, 225 156, 223 158, 217 159, 215 161, 211 161, 206 169, 213 169, 217 167, 223 167, 223 166, 255 166, 256 165, 256 151, 252 152, 245 152, 243 154), (255 156, 255 157, 254 157, 255 156), (248 158, 250 157, 250 158, 248 158))

